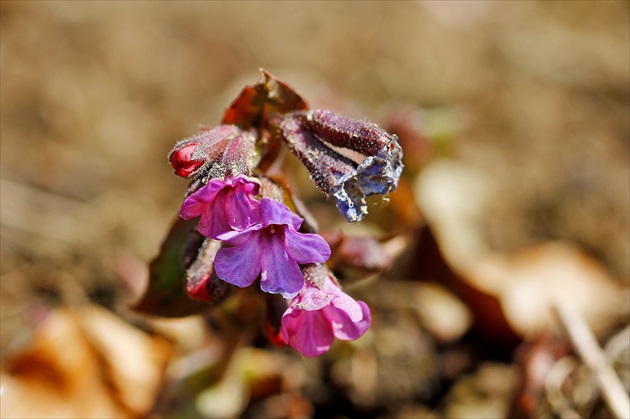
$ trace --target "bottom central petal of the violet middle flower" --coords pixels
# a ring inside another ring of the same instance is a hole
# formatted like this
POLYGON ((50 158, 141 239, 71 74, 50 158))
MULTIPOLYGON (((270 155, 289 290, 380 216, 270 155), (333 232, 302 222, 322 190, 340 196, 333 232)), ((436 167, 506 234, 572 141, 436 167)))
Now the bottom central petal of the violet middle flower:
MULTIPOLYGON (((281 228, 281 227, 278 227, 281 228)), ((265 233, 263 233, 265 234, 265 233)), ((260 288, 265 292, 293 298, 304 285, 300 267, 289 258, 279 232, 265 236, 261 243, 260 288)))

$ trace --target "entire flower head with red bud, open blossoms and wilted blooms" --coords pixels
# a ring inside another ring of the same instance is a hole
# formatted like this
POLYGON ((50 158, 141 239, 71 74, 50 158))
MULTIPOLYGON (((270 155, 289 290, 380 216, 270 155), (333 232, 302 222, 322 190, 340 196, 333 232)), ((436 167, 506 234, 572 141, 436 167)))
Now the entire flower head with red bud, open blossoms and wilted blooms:
POLYGON ((279 149, 284 144, 300 159, 348 222, 367 214, 367 196, 396 188, 402 151, 395 135, 330 111, 308 110, 287 85, 263 75, 263 83, 247 87, 232 103, 221 125, 180 141, 168 156, 175 173, 192 181, 180 217, 198 220, 195 234, 202 238, 201 244, 178 242, 197 249, 196 255, 185 253, 185 290, 216 304, 226 287, 258 281, 268 301, 280 301, 278 313, 268 310, 277 325, 268 330, 270 339, 318 356, 334 338, 362 336, 371 313, 341 290, 325 265, 329 244, 305 221, 312 218, 286 181, 278 180, 279 149), (274 166, 272 177, 267 172, 274 166))

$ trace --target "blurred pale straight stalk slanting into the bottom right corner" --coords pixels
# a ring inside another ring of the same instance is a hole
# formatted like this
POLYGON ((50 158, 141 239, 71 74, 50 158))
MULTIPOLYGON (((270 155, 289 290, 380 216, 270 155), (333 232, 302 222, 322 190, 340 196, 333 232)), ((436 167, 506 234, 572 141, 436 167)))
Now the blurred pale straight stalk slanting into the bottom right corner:
POLYGON ((555 306, 560 323, 585 364, 593 371, 603 399, 616 418, 630 418, 630 398, 578 311, 569 301, 555 306))

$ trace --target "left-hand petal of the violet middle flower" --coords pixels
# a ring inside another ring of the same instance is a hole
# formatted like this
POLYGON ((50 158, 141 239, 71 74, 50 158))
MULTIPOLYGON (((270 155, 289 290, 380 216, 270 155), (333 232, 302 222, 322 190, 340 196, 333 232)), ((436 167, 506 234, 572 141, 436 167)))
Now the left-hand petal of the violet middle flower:
POLYGON ((259 246, 256 233, 241 234, 242 244, 221 248, 214 260, 219 278, 239 287, 251 285, 260 273, 259 246), (249 238, 249 240, 248 240, 249 238))

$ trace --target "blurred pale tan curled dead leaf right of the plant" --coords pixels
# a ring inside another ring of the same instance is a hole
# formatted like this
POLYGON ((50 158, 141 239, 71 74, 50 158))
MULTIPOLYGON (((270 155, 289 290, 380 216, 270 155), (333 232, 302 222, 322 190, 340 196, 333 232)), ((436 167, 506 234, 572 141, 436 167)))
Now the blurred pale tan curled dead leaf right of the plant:
POLYGON ((596 332, 618 318, 619 286, 577 246, 556 241, 506 253, 490 248, 480 220, 493 189, 481 169, 436 161, 415 187, 428 226, 417 250, 424 262, 412 275, 434 275, 471 308, 475 329, 490 340, 502 336, 513 345, 510 334, 523 338, 553 329, 552 307, 559 299, 571 300, 596 332))

